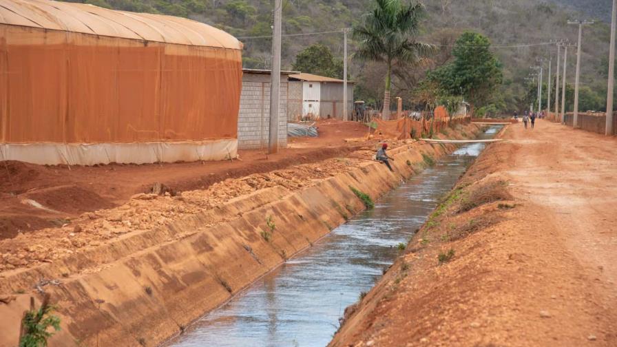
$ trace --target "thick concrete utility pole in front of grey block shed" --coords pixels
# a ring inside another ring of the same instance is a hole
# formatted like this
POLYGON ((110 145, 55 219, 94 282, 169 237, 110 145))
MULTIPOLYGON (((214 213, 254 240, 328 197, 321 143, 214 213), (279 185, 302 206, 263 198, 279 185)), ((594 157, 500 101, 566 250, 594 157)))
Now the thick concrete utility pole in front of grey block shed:
POLYGON ((268 153, 278 152, 278 116, 281 86, 281 0, 274 0, 274 28, 272 31, 272 71, 270 74, 270 132, 268 153))

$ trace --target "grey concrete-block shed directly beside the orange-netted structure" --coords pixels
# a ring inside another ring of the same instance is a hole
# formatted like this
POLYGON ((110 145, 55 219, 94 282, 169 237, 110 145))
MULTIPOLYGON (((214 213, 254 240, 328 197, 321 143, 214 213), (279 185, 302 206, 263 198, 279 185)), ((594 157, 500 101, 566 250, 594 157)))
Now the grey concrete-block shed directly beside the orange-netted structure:
MULTIPOLYGON (((287 147, 287 77, 296 72, 281 72, 278 143, 287 147)), ((271 70, 242 70, 242 92, 238 112, 238 149, 268 147, 270 134, 271 70)))

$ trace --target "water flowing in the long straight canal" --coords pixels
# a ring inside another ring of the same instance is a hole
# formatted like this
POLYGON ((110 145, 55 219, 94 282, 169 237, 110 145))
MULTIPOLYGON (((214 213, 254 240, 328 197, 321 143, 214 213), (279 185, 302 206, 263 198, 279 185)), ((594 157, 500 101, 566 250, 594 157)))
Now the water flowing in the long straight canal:
MULTIPOLYGON (((491 127, 481 138, 492 138, 491 127)), ((375 209, 205 315, 169 346, 326 346, 346 306, 357 301, 484 148, 465 145, 388 193, 375 209)))

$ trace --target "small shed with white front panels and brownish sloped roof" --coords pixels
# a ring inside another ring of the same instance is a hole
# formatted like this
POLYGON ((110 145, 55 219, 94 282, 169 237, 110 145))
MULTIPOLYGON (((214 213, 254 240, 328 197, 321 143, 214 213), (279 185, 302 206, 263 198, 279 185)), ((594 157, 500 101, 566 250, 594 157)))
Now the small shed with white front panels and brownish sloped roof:
MULTIPOLYGON (((315 74, 289 75, 290 121, 302 118, 343 118, 343 84, 338 78, 315 74)), ((353 112, 353 82, 347 81, 347 116, 353 112)))

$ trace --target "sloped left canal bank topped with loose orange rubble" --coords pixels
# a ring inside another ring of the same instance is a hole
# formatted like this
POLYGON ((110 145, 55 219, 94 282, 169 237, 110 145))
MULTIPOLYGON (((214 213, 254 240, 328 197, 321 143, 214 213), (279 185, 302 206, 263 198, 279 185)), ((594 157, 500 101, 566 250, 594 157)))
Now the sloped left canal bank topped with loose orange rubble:
MULTIPOLYGON (((458 125, 448 138, 473 138, 458 125)), ((440 135, 441 137, 443 134, 440 135)), ((355 151, 224 180, 176 196, 138 194, 64 227, 0 242, 0 346, 14 346, 31 296, 50 293, 63 330, 52 346, 154 346, 452 151, 392 143, 395 172, 355 151)))

